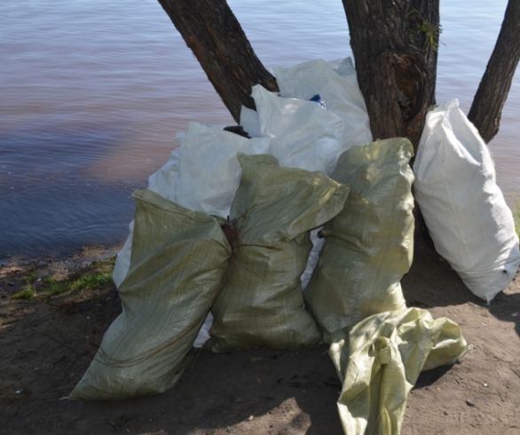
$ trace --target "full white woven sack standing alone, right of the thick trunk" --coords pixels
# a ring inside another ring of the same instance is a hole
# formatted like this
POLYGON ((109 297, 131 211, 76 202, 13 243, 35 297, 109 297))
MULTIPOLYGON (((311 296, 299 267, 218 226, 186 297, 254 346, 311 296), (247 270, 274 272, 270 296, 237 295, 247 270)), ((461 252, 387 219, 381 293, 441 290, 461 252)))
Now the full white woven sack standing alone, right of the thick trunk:
POLYGON ((518 237, 492 156, 458 100, 427 115, 414 171, 415 199, 437 252, 491 301, 515 276, 518 237))

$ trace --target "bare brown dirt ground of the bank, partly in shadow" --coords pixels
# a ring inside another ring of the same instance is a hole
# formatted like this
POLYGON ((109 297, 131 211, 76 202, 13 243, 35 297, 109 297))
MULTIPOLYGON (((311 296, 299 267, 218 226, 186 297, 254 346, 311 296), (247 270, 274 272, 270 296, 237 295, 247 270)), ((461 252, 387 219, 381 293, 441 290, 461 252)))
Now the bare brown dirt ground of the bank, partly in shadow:
MULTIPOLYGON (((0 267, 2 434, 341 434, 339 383, 327 348, 303 352, 193 351, 180 382, 160 396, 119 402, 61 399, 83 375, 120 312, 111 285, 15 301, 27 278, 78 273, 93 259, 15 261, 0 267), (25 277, 25 278, 24 278, 25 277)), ((423 373, 403 434, 520 434, 520 276, 486 306, 424 244, 403 281, 409 305, 457 321, 472 350, 423 373)))

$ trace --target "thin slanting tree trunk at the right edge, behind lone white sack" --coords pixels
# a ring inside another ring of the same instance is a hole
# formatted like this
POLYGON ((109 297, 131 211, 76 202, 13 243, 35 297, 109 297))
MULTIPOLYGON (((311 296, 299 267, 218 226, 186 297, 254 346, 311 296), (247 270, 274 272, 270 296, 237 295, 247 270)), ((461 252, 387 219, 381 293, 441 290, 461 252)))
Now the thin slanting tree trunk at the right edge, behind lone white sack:
POLYGON ((469 109, 485 142, 497 134, 502 108, 520 59, 520 0, 509 0, 500 34, 469 109))

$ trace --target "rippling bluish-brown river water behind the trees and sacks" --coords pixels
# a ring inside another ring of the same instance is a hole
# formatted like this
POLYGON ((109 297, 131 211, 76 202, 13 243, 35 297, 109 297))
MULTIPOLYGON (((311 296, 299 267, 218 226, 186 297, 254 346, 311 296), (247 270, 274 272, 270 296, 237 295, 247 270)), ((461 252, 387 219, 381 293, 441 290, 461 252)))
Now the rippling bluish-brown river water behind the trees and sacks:
MULTIPOLYGON (((437 101, 471 99, 506 1, 442 1, 437 101)), ((339 0, 229 2, 264 65, 351 54, 339 0)), ((520 193, 520 79, 491 149, 520 193)), ((231 117, 155 0, 0 3, 0 259, 67 254, 127 233, 130 193, 188 121, 231 117)))

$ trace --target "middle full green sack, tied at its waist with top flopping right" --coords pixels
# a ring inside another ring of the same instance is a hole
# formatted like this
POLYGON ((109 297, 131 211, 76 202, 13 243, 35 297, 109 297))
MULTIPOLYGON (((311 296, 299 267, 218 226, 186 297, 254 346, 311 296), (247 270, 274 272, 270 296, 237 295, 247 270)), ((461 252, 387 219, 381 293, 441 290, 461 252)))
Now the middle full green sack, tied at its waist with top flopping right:
POLYGON ((228 228, 234 246, 225 288, 211 311, 214 352, 319 342, 303 309, 300 276, 309 231, 343 209, 348 188, 322 172, 282 168, 269 155, 239 154, 240 186, 228 228))

